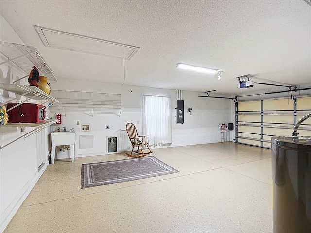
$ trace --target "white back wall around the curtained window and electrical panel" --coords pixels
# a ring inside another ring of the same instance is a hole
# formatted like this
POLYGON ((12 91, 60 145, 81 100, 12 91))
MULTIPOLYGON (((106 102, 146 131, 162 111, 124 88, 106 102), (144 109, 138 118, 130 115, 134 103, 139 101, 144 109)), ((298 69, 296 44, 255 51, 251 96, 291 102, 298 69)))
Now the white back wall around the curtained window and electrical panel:
MULTIPOLYGON (((219 122, 232 122, 231 120, 231 102, 229 99, 202 98, 200 92, 183 91, 183 100, 185 108, 185 123, 175 124, 176 119, 176 100, 177 91, 170 89, 159 89, 150 87, 140 87, 124 85, 119 83, 96 82, 94 85, 85 87, 85 81, 82 80, 59 80, 52 84, 52 90, 71 90, 71 91, 88 91, 121 94, 121 116, 113 114, 94 114, 94 117, 84 113, 66 113, 62 116, 60 127, 66 126, 67 129, 76 130, 75 156, 89 156, 106 154, 106 137, 118 136, 118 151, 131 150, 131 144, 125 131, 125 125, 132 122, 136 125, 138 133, 141 133, 142 119, 142 97, 143 95, 168 96, 172 100, 172 137, 173 142, 164 147, 185 146, 194 144, 214 143, 221 141, 221 135, 218 132, 219 122), (72 85, 74 83, 74 85, 72 85), (187 111, 192 108, 192 115, 187 111), (80 125, 76 122, 90 123, 90 132, 81 132, 80 125), (105 126, 109 125, 110 129, 106 130, 105 126), (94 135, 94 148, 80 149, 79 136, 89 134, 94 135)), ((55 115, 51 115, 53 118, 55 115)), ((49 116, 50 117, 50 116, 49 116)), ((58 126, 53 126, 54 131, 58 126)), ((228 133, 229 138, 229 133, 228 133)), ((163 146, 153 145, 152 148, 163 146)), ((58 152, 58 158, 69 158, 69 152, 58 152)))

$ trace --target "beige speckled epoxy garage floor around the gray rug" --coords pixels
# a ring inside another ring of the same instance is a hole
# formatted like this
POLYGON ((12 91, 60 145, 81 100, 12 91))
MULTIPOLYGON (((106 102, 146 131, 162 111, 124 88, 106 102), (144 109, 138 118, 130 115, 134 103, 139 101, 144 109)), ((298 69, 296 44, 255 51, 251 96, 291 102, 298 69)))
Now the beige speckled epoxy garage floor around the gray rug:
POLYGON ((153 151, 179 173, 81 189, 81 164, 128 157, 57 160, 4 232, 271 232, 269 149, 225 142, 153 151))

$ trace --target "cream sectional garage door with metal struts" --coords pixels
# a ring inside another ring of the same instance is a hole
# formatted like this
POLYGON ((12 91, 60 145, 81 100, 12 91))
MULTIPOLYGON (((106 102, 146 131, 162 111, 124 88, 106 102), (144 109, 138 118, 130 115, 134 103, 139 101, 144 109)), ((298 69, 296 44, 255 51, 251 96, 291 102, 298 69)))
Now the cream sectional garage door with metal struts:
MULTIPOLYGON (((272 136, 292 135, 294 124, 311 112, 311 97, 238 101, 236 142, 271 148, 272 136)), ((311 118, 298 128, 299 136, 311 136, 311 118)))

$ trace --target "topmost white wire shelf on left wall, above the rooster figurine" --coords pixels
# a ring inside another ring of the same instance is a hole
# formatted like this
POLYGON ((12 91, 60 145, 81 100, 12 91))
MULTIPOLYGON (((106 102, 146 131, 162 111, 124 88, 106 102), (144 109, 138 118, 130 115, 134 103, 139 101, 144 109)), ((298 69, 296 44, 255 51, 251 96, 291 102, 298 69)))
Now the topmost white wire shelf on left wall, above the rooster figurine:
POLYGON ((0 41, 0 53, 7 59, 7 61, 1 62, 0 65, 13 62, 27 74, 22 78, 14 80, 13 83, 28 77, 33 69, 32 66, 37 67, 40 75, 46 76, 49 83, 57 82, 51 69, 35 47, 0 41))

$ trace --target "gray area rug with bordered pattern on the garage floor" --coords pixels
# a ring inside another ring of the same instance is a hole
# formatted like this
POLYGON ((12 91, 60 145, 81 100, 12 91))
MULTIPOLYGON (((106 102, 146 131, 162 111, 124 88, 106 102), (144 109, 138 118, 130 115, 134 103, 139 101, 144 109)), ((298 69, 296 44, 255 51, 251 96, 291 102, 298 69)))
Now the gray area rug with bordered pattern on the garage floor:
POLYGON ((154 156, 83 164, 81 188, 139 180, 179 172, 154 156))

